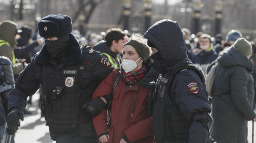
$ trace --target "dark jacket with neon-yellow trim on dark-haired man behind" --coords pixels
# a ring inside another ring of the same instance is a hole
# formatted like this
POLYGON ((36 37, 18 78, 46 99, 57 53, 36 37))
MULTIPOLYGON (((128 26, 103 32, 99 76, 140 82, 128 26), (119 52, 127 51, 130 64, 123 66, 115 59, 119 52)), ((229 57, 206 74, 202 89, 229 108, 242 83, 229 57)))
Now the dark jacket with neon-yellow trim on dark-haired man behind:
POLYGON ((110 62, 114 65, 114 67, 120 67, 122 63, 122 57, 119 53, 113 52, 108 45, 106 44, 105 40, 99 41, 94 47, 94 50, 100 51, 101 54, 105 57, 108 58, 108 55, 110 56, 111 59, 109 59, 110 62))

